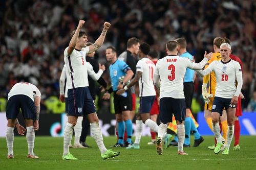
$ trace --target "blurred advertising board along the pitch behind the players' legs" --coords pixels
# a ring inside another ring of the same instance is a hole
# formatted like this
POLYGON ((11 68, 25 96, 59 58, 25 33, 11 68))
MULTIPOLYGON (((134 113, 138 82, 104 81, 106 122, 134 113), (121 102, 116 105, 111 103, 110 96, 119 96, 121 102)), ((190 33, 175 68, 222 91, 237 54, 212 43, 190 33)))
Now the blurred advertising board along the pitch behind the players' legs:
MULTIPOLYGON (((98 114, 99 125, 102 130, 103 136, 115 135, 115 115, 114 114, 98 114)), ((24 126, 24 120, 22 114, 18 115, 18 120, 21 125, 24 126)), ((256 112, 243 112, 243 116, 239 117, 241 124, 241 135, 256 135, 256 112)), ((67 122, 67 116, 62 114, 41 114, 39 118, 39 130, 35 131, 36 135, 47 135, 53 137, 62 137, 65 124, 67 122)), ((213 135, 208 128, 204 113, 199 112, 197 114, 197 122, 199 123, 198 130, 201 135, 213 135)), ((135 123, 133 124, 133 130, 135 131, 135 123)), ((7 119, 5 112, 0 112, 0 137, 5 137, 7 129, 7 119)), ((17 131, 14 130, 15 135, 17 131)), ((150 136, 150 128, 143 124, 142 136, 150 136)))

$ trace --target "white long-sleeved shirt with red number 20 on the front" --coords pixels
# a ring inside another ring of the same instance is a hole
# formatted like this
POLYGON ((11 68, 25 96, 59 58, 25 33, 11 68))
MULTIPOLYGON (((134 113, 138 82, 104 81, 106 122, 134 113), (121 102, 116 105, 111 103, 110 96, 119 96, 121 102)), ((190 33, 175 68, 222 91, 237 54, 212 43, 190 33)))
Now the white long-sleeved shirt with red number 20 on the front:
POLYGON ((242 88, 242 69, 239 62, 229 60, 226 63, 213 61, 205 70, 200 70, 200 74, 208 75, 211 71, 215 72, 216 91, 215 96, 220 98, 231 99, 234 95, 238 96, 242 88), (235 81, 238 81, 236 87, 235 81))

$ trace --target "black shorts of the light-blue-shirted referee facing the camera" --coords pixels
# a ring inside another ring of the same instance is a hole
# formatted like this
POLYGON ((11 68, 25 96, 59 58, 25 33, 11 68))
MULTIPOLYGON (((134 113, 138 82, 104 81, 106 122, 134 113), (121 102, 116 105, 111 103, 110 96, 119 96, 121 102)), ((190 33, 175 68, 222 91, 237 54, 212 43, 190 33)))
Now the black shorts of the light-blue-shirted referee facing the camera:
POLYGON ((117 95, 114 91, 115 114, 121 114, 122 111, 132 111, 132 93, 131 89, 126 90, 122 95, 117 95))

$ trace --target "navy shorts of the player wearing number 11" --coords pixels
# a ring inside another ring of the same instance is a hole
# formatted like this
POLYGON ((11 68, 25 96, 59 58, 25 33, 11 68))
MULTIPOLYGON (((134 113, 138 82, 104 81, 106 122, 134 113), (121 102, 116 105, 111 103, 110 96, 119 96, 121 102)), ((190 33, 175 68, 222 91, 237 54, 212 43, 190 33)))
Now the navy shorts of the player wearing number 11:
POLYGON ((155 95, 140 97, 139 113, 150 113, 155 98, 155 95))

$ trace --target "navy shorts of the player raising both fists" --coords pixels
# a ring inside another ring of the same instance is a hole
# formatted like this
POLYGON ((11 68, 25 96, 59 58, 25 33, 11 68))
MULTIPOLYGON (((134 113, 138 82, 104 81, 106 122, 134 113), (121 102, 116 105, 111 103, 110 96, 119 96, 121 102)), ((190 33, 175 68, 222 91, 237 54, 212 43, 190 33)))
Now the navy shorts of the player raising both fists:
POLYGON ((82 116, 96 112, 96 106, 88 87, 68 89, 68 114, 82 116))

